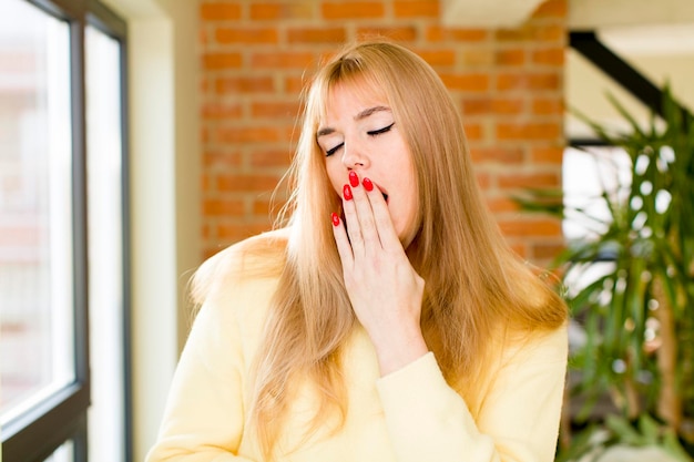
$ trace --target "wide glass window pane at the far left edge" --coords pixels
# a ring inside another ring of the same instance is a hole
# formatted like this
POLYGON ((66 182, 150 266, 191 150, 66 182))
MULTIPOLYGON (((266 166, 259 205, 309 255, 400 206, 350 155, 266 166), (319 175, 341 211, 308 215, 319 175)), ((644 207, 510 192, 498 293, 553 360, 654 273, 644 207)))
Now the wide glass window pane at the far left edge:
POLYGON ((0 423, 74 380, 68 25, 0 2, 0 423))

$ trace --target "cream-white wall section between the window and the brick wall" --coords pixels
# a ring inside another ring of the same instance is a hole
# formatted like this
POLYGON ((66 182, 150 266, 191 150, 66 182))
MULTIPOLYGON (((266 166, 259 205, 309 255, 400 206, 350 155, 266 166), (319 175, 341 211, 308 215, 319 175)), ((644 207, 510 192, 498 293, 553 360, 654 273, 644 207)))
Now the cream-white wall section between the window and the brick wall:
POLYGON ((133 443, 154 442, 200 264, 197 2, 108 0, 129 27, 133 443))

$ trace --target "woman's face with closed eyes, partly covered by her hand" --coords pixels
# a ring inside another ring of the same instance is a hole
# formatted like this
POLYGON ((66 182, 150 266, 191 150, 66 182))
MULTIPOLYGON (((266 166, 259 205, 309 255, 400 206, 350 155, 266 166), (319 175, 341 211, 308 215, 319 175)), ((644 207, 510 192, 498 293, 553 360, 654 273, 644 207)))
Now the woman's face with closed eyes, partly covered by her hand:
POLYGON ((317 141, 335 192, 341 197, 349 171, 371 179, 384 194, 395 230, 407 247, 417 233, 418 192, 412 156, 386 101, 372 92, 337 85, 327 101, 317 141))

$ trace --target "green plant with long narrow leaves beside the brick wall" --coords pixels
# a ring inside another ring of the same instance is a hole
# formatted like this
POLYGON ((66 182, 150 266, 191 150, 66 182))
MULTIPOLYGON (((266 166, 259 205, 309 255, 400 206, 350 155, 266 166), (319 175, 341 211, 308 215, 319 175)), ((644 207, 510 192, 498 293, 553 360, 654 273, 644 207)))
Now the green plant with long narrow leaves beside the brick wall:
POLYGON ((583 402, 574 421, 585 422, 606 396, 627 421, 652 417, 692 444, 694 121, 670 92, 664 121, 653 117, 646 130, 611 101, 629 122, 629 133, 612 134, 583 117, 603 142, 629 154, 630 181, 594 198, 609 216, 570 205, 559 192, 532 191, 519 202, 528 211, 579 217, 594 229, 594 238, 568 243, 558 257, 564 278, 594 269, 605 256, 613 261, 584 287, 567 292, 572 316, 586 333, 571 358, 579 372, 571 393, 583 402))

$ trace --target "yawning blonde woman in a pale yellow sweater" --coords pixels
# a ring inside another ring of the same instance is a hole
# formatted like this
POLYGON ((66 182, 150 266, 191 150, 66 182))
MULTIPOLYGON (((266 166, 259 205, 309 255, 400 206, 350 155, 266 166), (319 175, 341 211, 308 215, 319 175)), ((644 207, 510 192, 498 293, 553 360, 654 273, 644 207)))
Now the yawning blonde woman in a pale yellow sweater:
POLYGON ((198 270, 147 461, 551 461, 567 309, 509 249, 423 60, 315 76, 285 228, 198 270))

